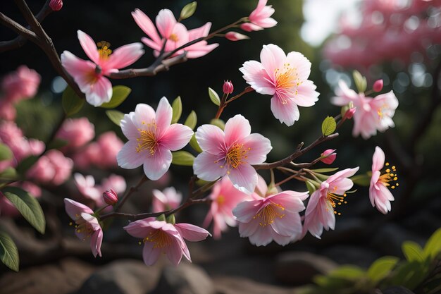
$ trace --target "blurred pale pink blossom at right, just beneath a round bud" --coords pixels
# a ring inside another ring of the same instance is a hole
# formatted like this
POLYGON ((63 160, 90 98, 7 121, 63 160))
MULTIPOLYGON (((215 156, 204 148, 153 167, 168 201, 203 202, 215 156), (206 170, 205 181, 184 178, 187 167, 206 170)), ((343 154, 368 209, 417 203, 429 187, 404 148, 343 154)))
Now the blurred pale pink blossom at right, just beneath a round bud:
POLYGON ((392 91, 374 98, 365 97, 364 93, 357 94, 340 80, 336 94, 337 96, 331 99, 333 104, 337 106, 344 106, 349 102, 354 104, 356 109, 352 130, 354 137, 361 135, 364 139, 368 139, 376 135, 377 130, 384 132, 387 128, 395 126, 392 117, 398 107, 398 99, 392 91))

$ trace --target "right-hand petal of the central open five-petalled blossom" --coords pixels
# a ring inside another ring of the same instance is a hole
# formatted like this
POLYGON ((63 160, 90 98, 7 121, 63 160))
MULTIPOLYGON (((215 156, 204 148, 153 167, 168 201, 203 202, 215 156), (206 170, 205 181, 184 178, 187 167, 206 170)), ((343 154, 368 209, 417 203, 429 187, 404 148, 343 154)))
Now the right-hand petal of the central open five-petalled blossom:
POLYGON ((247 163, 261 164, 266 161, 266 154, 268 154, 273 147, 271 141, 261 134, 251 134, 242 141, 244 148, 248 149, 247 163))

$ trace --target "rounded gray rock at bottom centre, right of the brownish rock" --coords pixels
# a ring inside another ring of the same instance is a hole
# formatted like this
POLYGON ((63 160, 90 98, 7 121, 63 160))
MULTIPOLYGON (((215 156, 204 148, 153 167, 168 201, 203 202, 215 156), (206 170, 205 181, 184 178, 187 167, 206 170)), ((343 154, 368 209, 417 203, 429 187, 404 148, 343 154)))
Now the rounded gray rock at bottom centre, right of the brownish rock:
POLYGON ((194 264, 181 263, 163 269, 161 278, 151 294, 214 294, 211 278, 194 264))

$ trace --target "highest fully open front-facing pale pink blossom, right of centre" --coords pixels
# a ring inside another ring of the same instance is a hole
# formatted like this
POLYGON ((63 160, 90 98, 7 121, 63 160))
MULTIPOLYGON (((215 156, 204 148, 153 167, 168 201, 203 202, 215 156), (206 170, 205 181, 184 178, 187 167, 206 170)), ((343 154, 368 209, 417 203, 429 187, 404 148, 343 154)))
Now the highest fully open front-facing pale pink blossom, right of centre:
POLYGON ((271 111, 280 123, 299 120, 297 106, 313 106, 318 100, 316 85, 308 80, 311 62, 299 52, 285 52, 274 44, 263 45, 261 63, 247 61, 240 71, 259 94, 273 95, 271 111))

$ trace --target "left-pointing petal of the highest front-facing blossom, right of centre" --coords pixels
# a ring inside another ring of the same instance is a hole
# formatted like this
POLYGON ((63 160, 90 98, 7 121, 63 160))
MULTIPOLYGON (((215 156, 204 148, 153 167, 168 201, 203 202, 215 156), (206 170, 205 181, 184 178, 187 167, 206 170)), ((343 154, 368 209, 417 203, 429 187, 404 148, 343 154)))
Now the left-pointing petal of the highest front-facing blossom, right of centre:
POLYGON ((273 95, 275 87, 271 81, 273 78, 268 76, 265 68, 258 61, 247 61, 239 70, 244 74, 243 78, 259 94, 273 95))

